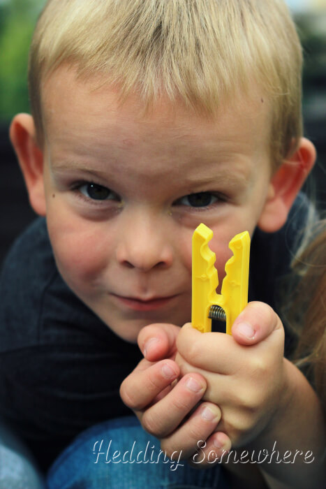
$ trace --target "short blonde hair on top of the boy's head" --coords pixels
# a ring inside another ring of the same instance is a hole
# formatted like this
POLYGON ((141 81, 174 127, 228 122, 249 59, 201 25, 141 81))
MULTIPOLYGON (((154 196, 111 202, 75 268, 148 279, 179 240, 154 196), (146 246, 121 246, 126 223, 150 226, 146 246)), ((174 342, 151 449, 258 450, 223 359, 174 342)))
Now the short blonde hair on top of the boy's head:
POLYGON ((29 59, 40 140, 42 82, 61 64, 104 76, 121 100, 135 92, 149 107, 165 95, 204 115, 258 86, 272 106, 275 166, 302 135, 302 50, 283 0, 47 1, 29 59))

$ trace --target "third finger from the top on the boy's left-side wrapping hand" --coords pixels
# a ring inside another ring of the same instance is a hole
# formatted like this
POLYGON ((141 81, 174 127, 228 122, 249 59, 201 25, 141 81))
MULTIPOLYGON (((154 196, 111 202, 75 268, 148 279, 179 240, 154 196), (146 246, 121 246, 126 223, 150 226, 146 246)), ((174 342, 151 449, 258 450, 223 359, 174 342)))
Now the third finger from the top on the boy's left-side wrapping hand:
POLYGON ((163 399, 142 416, 143 428, 157 438, 174 431, 205 393, 206 381, 200 374, 188 374, 163 399))

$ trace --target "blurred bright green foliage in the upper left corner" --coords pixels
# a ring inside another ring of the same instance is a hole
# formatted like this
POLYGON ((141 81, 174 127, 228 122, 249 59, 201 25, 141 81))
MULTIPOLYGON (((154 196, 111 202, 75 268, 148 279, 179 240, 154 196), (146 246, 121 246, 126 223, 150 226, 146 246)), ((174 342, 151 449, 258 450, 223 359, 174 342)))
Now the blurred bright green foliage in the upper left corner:
POLYGON ((44 4, 45 0, 0 1, 0 122, 29 112, 28 52, 44 4))

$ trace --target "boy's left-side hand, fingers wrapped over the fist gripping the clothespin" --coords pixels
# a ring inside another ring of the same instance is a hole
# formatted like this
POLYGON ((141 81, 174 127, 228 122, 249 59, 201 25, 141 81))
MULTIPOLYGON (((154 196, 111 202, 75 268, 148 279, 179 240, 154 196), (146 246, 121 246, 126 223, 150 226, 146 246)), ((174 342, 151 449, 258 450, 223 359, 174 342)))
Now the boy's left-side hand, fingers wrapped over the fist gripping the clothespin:
POLYGON ((177 382, 179 332, 180 328, 171 324, 142 329, 138 344, 145 358, 121 384, 121 399, 133 409, 143 428, 161 439, 168 456, 182 451, 182 459, 190 458, 202 441, 205 448, 200 448, 195 462, 208 460, 209 453, 210 460, 216 460, 230 449, 230 440, 224 433, 214 432, 221 410, 212 402, 198 404, 207 387, 205 378, 194 372, 177 382))

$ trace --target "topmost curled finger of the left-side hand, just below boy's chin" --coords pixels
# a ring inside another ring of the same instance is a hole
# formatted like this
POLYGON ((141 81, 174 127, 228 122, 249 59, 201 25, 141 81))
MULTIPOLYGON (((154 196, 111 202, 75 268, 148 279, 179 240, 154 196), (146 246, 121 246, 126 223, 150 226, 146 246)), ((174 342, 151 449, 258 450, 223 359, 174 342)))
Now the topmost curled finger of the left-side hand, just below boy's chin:
POLYGON ((179 326, 174 324, 150 324, 140 330, 138 346, 151 362, 169 358, 175 353, 175 340, 179 331, 179 326))

